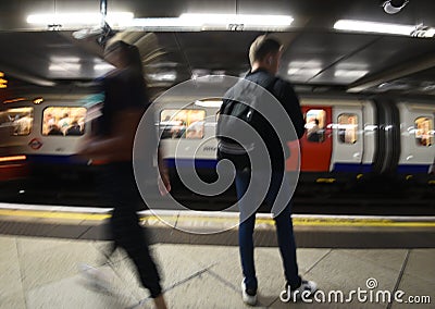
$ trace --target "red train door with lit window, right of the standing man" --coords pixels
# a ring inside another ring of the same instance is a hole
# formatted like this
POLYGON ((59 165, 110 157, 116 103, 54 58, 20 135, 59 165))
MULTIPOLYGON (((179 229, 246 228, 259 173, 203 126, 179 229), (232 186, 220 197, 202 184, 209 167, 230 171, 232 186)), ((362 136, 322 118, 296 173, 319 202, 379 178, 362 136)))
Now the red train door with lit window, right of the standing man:
POLYGON ((300 139, 302 172, 330 171, 332 138, 332 108, 320 106, 301 107, 306 119, 306 134, 300 139))

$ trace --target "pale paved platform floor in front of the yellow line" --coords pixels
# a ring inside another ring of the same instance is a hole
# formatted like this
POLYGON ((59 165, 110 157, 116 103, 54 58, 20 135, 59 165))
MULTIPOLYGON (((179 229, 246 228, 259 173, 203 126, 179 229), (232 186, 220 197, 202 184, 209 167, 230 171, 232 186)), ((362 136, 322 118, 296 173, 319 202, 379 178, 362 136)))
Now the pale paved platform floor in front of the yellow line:
MULTIPOLYGON (((111 282, 110 292, 96 289, 80 273, 83 263, 98 265, 108 245, 0 235, 0 308, 152 308, 122 251, 112 265, 99 268, 111 282)), ((170 308, 248 308, 240 297, 236 246, 154 244, 152 250, 170 308)), ((318 282, 326 301, 281 301, 284 276, 278 249, 260 247, 256 249, 258 308, 435 308, 435 249, 301 248, 298 260, 300 273, 318 282), (370 289, 368 284, 373 283, 377 286, 370 289), (336 294, 327 301, 331 292, 340 291, 347 298, 358 288, 368 291, 365 301, 359 301, 357 294, 351 302, 335 301, 336 294), (375 299, 378 292, 397 291, 405 293, 402 304, 375 299), (432 304, 406 302, 412 299, 432 304)))

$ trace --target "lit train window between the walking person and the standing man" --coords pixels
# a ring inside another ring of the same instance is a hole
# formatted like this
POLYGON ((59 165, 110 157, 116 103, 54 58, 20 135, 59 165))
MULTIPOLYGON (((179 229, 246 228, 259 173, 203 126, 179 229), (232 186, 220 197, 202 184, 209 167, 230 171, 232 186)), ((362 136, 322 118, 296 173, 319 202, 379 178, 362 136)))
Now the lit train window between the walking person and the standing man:
POLYGON ((204 110, 163 110, 160 113, 161 138, 202 138, 204 110))

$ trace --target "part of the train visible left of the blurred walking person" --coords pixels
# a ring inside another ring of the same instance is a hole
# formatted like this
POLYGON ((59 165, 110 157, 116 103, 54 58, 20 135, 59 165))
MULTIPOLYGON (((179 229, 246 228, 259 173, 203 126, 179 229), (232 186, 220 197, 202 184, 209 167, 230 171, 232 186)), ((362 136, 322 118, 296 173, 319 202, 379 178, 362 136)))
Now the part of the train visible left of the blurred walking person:
POLYGON ((5 101, 0 111, 3 181, 79 177, 87 162, 76 156, 90 134, 89 100, 83 95, 49 95, 5 101))

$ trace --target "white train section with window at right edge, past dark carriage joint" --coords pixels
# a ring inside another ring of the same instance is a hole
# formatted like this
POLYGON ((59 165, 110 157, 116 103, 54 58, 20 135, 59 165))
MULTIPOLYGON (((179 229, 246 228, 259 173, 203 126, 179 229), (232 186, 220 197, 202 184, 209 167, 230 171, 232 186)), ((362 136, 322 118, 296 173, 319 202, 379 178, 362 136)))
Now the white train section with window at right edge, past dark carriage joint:
POLYGON ((401 153, 399 173, 428 173, 434 163, 433 106, 399 103, 401 153))

